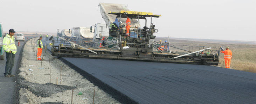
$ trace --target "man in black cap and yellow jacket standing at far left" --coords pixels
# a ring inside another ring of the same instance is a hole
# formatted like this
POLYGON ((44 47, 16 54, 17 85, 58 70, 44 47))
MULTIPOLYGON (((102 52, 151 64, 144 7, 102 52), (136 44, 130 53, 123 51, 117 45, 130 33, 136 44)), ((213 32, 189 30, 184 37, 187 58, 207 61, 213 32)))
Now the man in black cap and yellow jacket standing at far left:
POLYGON ((3 49, 6 52, 6 64, 5 64, 5 77, 14 77, 12 75, 12 68, 14 65, 15 53, 17 52, 17 47, 15 46, 14 39, 15 31, 13 29, 9 30, 9 34, 6 34, 3 40, 3 49))

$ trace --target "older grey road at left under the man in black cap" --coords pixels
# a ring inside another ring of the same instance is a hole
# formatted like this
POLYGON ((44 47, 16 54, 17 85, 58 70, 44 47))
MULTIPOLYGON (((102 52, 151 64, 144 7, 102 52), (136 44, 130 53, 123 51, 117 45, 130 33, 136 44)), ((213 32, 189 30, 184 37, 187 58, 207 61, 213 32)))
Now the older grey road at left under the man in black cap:
MULTIPOLYGON (((31 38, 31 37, 28 37, 31 38)), ((27 37, 25 41, 27 40, 27 37)), ((17 46, 17 52, 15 54, 15 61, 14 61, 14 67, 12 69, 12 74, 15 74, 18 65, 18 60, 20 58, 20 50, 25 42, 20 41, 20 46, 18 46, 18 42, 15 42, 15 45, 17 46)), ((4 60, 0 61, 0 102, 1 104, 12 104, 13 103, 13 97, 14 94, 17 92, 14 92, 14 77, 4 77, 5 73, 5 62, 6 57, 4 60)))

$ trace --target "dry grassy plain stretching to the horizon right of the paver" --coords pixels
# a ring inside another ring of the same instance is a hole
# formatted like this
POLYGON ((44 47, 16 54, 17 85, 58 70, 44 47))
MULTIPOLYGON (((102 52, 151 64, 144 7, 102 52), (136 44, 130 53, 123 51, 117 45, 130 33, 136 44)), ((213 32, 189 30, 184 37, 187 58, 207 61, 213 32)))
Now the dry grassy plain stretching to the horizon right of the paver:
MULTIPOLYGON (((159 41, 157 38, 155 41, 159 41)), ((166 39, 161 39, 166 40, 166 39)), ((190 46, 209 46, 216 47, 219 49, 220 46, 229 47, 232 51, 233 58, 231 59, 230 67, 236 70, 242 70, 246 72, 256 73, 256 45, 255 44, 232 44, 232 43, 210 43, 210 42, 196 42, 196 41, 188 41, 188 40, 169 40, 171 45, 179 44, 179 45, 190 45, 190 46)), ((180 47, 182 49, 189 50, 189 47, 180 47)), ((193 49, 193 51, 197 51, 199 49, 193 49)), ((178 50, 174 50, 178 51, 178 50)), ((220 62, 219 67, 223 66, 223 53, 220 54, 220 62)))

